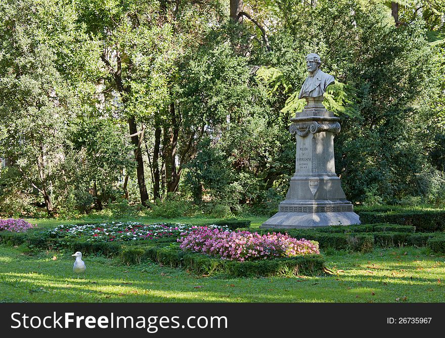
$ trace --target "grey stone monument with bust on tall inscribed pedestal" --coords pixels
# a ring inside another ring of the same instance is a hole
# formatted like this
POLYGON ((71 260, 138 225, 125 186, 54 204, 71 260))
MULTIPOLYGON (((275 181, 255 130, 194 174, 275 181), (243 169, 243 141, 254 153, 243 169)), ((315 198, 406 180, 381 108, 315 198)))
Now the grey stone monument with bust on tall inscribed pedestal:
POLYGON ((360 223, 335 174, 334 136, 340 132, 340 118, 334 117, 323 105, 323 94, 327 86, 334 83, 334 77, 321 71, 320 65, 317 54, 306 57, 309 76, 298 96, 306 99, 306 106, 291 118, 289 128, 297 143, 295 174, 290 179, 286 200, 278 206, 278 213, 261 228, 360 223))

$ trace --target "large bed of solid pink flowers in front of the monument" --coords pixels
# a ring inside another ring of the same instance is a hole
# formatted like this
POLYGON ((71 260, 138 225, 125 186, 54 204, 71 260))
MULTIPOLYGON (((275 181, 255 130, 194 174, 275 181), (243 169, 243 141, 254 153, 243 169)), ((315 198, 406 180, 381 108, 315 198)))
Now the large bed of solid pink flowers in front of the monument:
POLYGON ((317 242, 275 232, 260 235, 257 232, 199 227, 182 233, 177 242, 185 251, 240 262, 320 254, 317 242))

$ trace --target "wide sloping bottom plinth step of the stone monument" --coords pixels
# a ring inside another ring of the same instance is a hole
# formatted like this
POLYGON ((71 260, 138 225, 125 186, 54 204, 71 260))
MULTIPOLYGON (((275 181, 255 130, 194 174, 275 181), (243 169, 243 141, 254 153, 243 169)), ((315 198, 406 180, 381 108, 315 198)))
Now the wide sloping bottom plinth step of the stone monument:
POLYGON ((277 212, 260 225, 260 228, 304 229, 329 225, 360 224, 359 215, 343 212, 277 212))

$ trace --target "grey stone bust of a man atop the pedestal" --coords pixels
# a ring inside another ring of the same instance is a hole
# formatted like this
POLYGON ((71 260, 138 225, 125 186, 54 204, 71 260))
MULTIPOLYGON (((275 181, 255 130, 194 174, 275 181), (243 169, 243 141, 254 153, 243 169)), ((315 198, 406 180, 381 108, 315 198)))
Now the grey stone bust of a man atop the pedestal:
POLYGON ((309 71, 309 76, 301 86, 298 99, 317 98, 318 96, 322 96, 326 91, 326 88, 334 83, 334 77, 332 75, 326 74, 320 70, 321 64, 322 61, 317 54, 310 53, 306 56, 306 66, 309 71))

